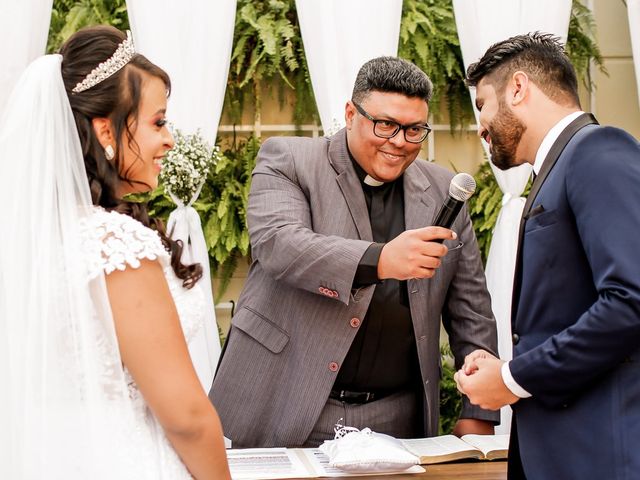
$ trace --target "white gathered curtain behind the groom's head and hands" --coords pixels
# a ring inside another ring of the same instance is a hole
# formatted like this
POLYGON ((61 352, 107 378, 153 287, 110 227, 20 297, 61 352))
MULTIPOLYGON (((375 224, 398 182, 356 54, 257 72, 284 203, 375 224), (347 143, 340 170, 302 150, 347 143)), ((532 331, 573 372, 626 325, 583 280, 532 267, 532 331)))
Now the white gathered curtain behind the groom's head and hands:
MULTIPOLYGON (((540 30, 553 33, 566 42, 571 15, 571 0, 453 0, 465 68, 480 59, 489 46, 521 33, 540 30)), ((476 120, 475 89, 471 89, 476 120)), ((482 141, 485 153, 488 146, 482 141)), ((525 199, 522 193, 531 174, 529 164, 501 171, 491 165, 504 196, 498 216, 489 258, 487 286, 491 292, 493 313, 498 324, 498 351, 511 359, 511 293, 520 217, 525 199)), ((511 410, 502 409, 497 433, 509 431, 511 410)))

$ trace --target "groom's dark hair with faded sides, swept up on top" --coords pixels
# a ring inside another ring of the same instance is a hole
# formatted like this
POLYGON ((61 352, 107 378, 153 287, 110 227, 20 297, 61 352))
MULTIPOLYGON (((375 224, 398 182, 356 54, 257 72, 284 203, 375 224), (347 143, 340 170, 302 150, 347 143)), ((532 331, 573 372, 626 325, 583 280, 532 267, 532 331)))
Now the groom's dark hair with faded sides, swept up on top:
POLYGON ((486 78, 500 94, 518 70, 556 103, 580 105, 576 71, 560 39, 550 33, 516 35, 493 44, 478 62, 469 65, 467 85, 475 87, 486 78))

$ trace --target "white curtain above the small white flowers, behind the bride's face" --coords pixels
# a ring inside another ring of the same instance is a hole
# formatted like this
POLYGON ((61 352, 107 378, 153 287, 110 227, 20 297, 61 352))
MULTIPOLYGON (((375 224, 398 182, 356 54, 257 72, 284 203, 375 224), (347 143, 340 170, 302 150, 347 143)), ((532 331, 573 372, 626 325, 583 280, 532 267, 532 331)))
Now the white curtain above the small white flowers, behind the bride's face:
POLYGON ((169 119, 213 144, 229 73, 236 0, 127 0, 137 50, 171 77, 169 119))

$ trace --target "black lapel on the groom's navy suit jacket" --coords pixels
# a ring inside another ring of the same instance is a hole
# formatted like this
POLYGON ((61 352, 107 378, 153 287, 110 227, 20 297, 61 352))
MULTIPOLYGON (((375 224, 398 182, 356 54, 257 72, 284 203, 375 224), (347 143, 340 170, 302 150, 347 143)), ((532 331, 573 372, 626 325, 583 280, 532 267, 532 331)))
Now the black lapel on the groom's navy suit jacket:
POLYGON ((533 202, 542 187, 545 179, 549 175, 549 172, 553 169, 554 165, 560 158, 560 155, 564 151, 564 148, 567 146, 569 141, 573 138, 573 136, 583 127, 591 124, 597 124, 598 121, 595 117, 590 113, 585 113, 576 118, 573 122, 571 122, 567 128, 565 128, 558 139, 554 142, 549 150, 549 153, 544 159, 542 163, 542 168, 540 169, 540 173, 536 176, 533 185, 531 185, 531 191, 527 196, 527 201, 524 204, 524 210, 522 211, 522 217, 520 217, 520 230, 518 231, 518 250, 516 254, 516 268, 513 278, 513 296, 511 301, 511 321, 514 322, 516 318, 518 300, 520 298, 520 273, 522 267, 522 239, 524 237, 524 226, 526 223, 526 216, 531 210, 533 206, 533 202))

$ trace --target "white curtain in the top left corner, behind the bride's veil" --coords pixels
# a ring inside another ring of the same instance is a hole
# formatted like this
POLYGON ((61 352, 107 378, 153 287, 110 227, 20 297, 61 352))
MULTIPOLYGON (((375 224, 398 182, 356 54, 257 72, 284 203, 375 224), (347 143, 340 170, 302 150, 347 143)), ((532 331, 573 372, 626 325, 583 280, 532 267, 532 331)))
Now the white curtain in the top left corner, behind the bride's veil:
POLYGON ((22 71, 45 53, 52 5, 53 0, 0 0, 0 115, 22 71))

